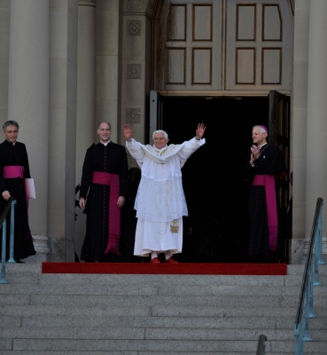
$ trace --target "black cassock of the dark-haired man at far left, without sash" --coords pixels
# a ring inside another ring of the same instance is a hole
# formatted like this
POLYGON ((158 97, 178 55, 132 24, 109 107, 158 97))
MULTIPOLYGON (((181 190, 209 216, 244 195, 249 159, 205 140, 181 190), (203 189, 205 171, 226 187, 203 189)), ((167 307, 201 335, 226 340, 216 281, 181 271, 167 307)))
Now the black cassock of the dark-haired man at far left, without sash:
MULTIPOLYGON (((27 217, 27 198, 25 193, 25 181, 21 177, 4 178, 4 166, 19 165, 24 167, 24 177, 30 178, 28 157, 26 146, 23 143, 16 142, 12 144, 4 140, 0 144, 0 191, 9 191, 15 198, 15 241, 14 241, 14 259, 19 261, 27 256, 35 255, 32 235, 28 225, 27 217)), ((4 212, 7 201, 0 196, 0 214, 4 212)), ((11 211, 7 215, 7 259, 9 258, 9 241, 10 241, 10 221, 11 211)), ((1 228, 0 235, 2 237, 3 230, 1 228)), ((2 240, 2 238, 1 238, 2 240)), ((1 245, 0 245, 0 248, 1 245)), ((1 254, 0 254, 1 255, 1 254)))

